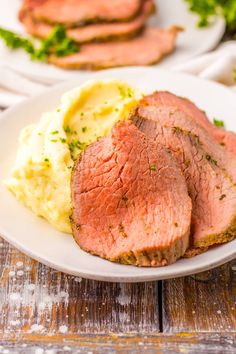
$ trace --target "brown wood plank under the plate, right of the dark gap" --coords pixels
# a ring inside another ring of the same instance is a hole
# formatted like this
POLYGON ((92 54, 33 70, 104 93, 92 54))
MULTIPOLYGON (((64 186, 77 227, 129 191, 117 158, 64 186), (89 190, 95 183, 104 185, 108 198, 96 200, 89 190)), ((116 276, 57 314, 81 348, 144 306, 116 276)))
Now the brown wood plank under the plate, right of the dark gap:
POLYGON ((163 283, 164 332, 236 333, 236 260, 163 283))

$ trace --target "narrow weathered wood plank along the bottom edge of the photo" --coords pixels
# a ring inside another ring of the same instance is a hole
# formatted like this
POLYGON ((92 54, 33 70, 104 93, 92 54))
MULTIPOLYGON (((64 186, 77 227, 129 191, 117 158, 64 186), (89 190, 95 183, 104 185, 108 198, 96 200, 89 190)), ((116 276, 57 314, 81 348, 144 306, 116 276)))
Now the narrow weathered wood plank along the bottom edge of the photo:
POLYGON ((44 342, 35 343, 29 340, 22 343, 0 343, 0 353, 9 350, 11 354, 136 354, 136 353, 161 353, 161 354, 234 354, 236 339, 231 335, 209 334, 191 336, 166 336, 154 337, 110 337, 110 336, 74 336, 75 338, 64 343, 49 343, 50 338, 44 342), (2 345, 2 349, 1 349, 2 345))

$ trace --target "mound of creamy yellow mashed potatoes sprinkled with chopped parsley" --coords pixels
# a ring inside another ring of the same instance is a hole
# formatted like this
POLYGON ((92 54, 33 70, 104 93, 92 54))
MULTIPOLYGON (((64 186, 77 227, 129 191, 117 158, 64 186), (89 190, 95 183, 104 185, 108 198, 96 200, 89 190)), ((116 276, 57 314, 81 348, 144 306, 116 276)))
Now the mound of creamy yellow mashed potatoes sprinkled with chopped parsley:
POLYGON ((62 96, 60 106, 24 128, 7 187, 32 211, 71 232, 71 172, 76 157, 125 120, 142 97, 114 80, 89 81, 62 96))

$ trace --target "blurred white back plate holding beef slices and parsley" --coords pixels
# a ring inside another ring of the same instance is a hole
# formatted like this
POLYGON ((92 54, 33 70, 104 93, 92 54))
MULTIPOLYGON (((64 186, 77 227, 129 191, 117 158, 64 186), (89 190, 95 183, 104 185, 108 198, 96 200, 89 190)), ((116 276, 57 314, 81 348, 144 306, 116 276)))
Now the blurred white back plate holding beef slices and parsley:
MULTIPOLYGON (((24 33, 24 28, 17 20, 21 0, 1 0, 0 26, 24 33)), ((190 13, 184 0, 157 0, 158 12, 151 19, 151 24, 168 27, 173 24, 185 28, 177 42, 176 51, 158 64, 158 67, 169 68, 214 48, 220 41, 225 23, 217 20, 208 28, 199 29, 198 17, 190 13)), ((31 62, 22 51, 10 52, 0 43, 0 62, 28 77, 43 82, 58 82, 74 78, 82 71, 66 71, 52 65, 31 62)))

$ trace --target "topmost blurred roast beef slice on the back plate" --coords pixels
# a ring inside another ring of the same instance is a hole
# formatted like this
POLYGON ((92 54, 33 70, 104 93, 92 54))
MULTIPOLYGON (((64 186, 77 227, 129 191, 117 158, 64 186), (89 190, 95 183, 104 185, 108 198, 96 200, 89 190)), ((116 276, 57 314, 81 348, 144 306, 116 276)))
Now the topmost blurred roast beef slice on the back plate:
POLYGON ((75 27, 128 21, 139 13, 141 6, 142 0, 24 0, 20 17, 31 12, 35 20, 75 27))

